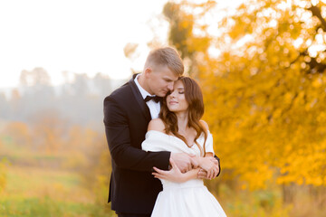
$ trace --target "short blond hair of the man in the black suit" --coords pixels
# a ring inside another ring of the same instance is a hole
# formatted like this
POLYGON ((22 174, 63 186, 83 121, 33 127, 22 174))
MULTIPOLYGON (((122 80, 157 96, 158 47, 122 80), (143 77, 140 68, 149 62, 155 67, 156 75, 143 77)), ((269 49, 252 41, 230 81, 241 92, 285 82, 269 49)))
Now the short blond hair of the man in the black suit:
POLYGON ((168 69, 177 76, 181 76, 185 70, 180 55, 171 47, 158 48, 149 52, 145 68, 156 66, 168 66, 168 69))

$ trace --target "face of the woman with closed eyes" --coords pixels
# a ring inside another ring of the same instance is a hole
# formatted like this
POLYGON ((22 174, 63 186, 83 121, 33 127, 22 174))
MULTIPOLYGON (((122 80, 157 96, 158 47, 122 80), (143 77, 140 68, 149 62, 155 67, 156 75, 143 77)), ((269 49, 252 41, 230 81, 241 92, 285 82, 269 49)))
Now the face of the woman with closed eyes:
POLYGON ((173 90, 167 97, 168 110, 172 112, 187 111, 188 103, 185 96, 185 87, 181 80, 174 83, 173 90))

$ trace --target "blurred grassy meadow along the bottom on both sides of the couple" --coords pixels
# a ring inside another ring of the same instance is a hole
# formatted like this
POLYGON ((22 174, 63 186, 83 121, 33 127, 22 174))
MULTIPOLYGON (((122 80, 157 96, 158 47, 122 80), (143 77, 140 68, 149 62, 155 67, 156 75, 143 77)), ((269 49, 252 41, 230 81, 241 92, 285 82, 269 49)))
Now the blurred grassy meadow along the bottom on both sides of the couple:
MULTIPOLYGON (((0 216, 116 216, 106 203, 110 155, 103 140, 98 148, 49 152, 17 145, 16 138, 2 135, 0 140, 0 216)), ((228 216, 305 217, 326 213, 321 207, 325 199, 322 193, 315 197, 311 190, 297 187, 292 203, 284 203, 283 189, 277 184, 250 191, 227 175, 223 170, 219 178, 206 181, 206 185, 228 216)))

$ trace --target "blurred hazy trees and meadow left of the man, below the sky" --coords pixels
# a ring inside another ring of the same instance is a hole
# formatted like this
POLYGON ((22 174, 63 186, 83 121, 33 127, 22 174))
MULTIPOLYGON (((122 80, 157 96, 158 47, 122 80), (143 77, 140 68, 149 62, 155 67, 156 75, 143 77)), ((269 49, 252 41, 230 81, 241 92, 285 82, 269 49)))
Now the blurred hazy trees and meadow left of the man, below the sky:
POLYGON ((22 71, 0 95, 0 216, 108 216, 110 153, 102 100, 124 80, 22 71))

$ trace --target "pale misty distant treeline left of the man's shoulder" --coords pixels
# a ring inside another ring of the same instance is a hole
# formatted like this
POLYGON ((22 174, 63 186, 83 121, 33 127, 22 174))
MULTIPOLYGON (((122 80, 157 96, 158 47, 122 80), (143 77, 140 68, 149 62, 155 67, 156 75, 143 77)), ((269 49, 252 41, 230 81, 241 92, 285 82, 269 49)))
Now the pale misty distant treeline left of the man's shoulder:
POLYGON ((43 68, 22 71, 19 87, 11 90, 10 97, 0 92, 0 119, 31 123, 40 116, 55 115, 68 125, 101 127, 103 99, 126 80, 111 80, 100 72, 93 78, 62 74, 65 82, 54 87, 43 68))

